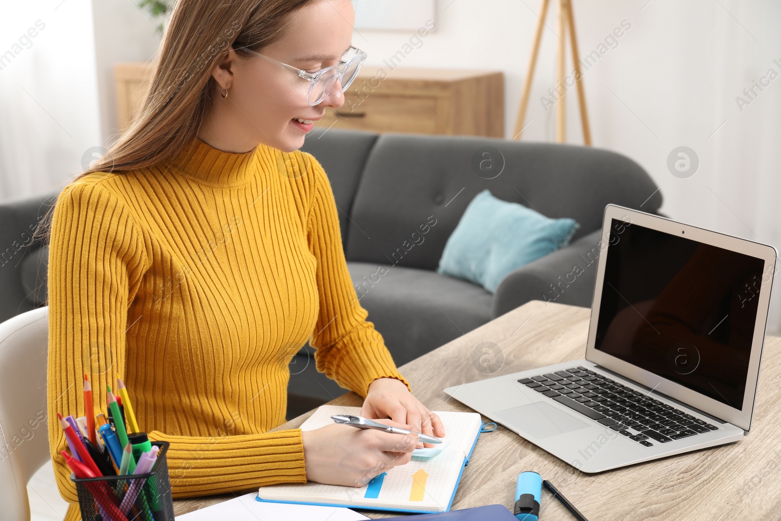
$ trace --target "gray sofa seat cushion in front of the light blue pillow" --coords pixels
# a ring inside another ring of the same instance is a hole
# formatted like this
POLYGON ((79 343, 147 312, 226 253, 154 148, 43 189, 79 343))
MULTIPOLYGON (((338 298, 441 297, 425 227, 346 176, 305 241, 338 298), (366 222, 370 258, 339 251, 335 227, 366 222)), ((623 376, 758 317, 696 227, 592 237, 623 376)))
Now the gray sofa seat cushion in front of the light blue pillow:
POLYGON ((482 287, 427 269, 348 262, 366 318, 397 365, 447 344, 490 320, 491 295, 482 287))

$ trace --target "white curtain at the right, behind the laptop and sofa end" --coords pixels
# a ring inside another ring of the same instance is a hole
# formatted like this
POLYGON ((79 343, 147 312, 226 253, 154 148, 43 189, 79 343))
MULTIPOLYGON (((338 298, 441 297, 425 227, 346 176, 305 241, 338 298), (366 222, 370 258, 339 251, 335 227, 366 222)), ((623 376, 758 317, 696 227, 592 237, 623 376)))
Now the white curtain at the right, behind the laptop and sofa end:
MULTIPOLYGON (((631 24, 584 73, 594 145, 639 162, 661 188, 662 212, 673 219, 781 249, 781 2, 573 5, 581 55, 597 49, 623 20, 631 24), (763 90, 754 81, 765 84, 763 90), (739 106, 739 96, 749 104, 739 106), (668 155, 679 146, 697 153, 700 165, 692 177, 668 170, 668 155)), ((557 30, 555 21, 548 25, 557 30)), ((555 70, 547 66, 555 36, 546 31, 544 37, 551 43, 540 56, 546 65, 532 96, 537 102, 555 84, 555 70)), ((515 95, 508 92, 508 105, 517 106, 515 95)), ((569 141, 582 143, 574 89, 567 102, 569 141)), ((529 138, 552 141, 555 111, 530 107, 528 117, 544 124, 531 123, 529 138)), ((515 114, 509 119, 514 124, 515 114)), ((781 274, 774 285, 768 331, 781 334, 781 274)))

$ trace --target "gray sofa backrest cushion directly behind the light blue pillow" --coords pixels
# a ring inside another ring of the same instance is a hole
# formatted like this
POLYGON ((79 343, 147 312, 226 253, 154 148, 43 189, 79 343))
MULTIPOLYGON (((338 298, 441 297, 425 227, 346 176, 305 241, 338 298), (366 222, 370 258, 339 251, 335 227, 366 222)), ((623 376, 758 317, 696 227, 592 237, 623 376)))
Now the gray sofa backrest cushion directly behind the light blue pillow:
POLYGON ((386 133, 377 139, 355 193, 348 261, 437 269, 466 205, 485 188, 552 219, 575 219, 580 229, 573 240, 601 228, 608 203, 651 213, 662 205, 651 177, 615 152, 490 137, 386 133), (419 227, 428 221, 436 225, 422 237, 419 227))

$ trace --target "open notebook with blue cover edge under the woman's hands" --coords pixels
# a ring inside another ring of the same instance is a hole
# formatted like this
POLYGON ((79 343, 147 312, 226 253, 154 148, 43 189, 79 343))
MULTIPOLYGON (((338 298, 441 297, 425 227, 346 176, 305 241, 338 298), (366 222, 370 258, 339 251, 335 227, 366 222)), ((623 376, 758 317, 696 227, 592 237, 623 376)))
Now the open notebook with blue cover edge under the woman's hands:
MULTIPOLYGON (((330 425, 331 416, 358 415, 358 407, 323 405, 310 416, 301 430, 330 425)), ((347 506, 392 512, 447 512, 458 482, 477 443, 483 421, 476 412, 437 412, 445 428, 441 438, 446 445, 436 454, 417 449, 412 460, 376 476, 364 487, 342 487, 315 482, 260 487, 258 501, 302 503, 306 505, 347 506)))

